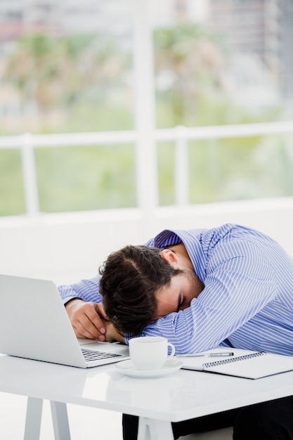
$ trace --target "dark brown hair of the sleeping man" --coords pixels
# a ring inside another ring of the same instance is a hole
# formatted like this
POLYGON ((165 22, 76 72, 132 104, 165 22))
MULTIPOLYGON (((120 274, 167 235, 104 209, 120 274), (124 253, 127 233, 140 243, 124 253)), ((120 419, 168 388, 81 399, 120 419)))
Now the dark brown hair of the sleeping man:
POLYGON ((130 245, 110 254, 100 266, 105 313, 123 335, 141 335, 143 328, 155 320, 157 290, 181 273, 162 258, 161 251, 130 245))

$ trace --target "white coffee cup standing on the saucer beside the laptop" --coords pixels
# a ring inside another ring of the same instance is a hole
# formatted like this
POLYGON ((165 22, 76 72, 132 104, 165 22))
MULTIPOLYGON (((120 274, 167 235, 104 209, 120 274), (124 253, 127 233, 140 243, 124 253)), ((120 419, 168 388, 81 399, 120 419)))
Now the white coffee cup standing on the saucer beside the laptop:
POLYGON ((134 337, 129 341, 129 355, 138 370, 159 370, 174 354, 174 345, 165 337, 134 337), (171 347, 169 356, 168 347, 171 347))

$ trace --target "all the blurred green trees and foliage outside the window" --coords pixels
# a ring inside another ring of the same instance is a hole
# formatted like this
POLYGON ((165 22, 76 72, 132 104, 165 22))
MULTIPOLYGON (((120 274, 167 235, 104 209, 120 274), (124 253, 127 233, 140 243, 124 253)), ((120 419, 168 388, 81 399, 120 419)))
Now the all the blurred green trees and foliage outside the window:
MULTIPOLYGON (((154 47, 158 128, 282 119, 282 107, 251 112, 230 101, 227 54, 201 27, 155 30, 154 47)), ((4 84, 18 92, 23 117, 9 131, 0 122, 0 134, 133 129, 131 68, 131 54, 108 37, 20 39, 4 84)), ((190 142, 190 202, 293 195, 291 143, 292 136, 190 142)), ((174 143, 158 143, 157 159, 159 203, 169 205, 174 143)), ((134 145, 36 148, 35 160, 41 212, 137 205, 134 145)), ((24 212, 20 152, 0 150, 0 215, 24 212)))

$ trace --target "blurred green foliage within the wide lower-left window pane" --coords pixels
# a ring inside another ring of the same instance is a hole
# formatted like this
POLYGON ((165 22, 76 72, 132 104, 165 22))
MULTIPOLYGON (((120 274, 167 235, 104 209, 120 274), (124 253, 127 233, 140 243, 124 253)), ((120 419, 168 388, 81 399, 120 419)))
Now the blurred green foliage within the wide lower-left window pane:
POLYGON ((136 205, 131 145, 39 148, 36 163, 41 212, 136 205))

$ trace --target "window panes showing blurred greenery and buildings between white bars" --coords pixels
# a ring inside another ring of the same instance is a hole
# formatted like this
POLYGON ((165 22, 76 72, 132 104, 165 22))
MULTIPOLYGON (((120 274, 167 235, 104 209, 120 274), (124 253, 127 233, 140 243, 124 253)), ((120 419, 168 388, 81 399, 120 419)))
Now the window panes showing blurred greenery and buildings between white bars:
MULTIPOLYGON (((292 119, 290 5, 149 0, 153 128, 292 119)), ((134 96, 133 8, 130 0, 2 2, 0 136, 126 132, 138 119, 152 119, 150 108, 138 110, 134 96)), ((150 73, 147 56, 143 63, 141 72, 150 73)), ((161 205, 176 200, 174 139, 157 141, 161 205)), ((290 134, 186 143, 188 202, 293 193, 290 134)), ((37 146, 40 209, 138 205, 136 159, 134 137, 119 145, 37 146)), ((154 164, 153 176, 155 171, 154 164)), ((0 138, 0 215, 25 212, 22 172, 19 150, 8 150, 0 138)))

